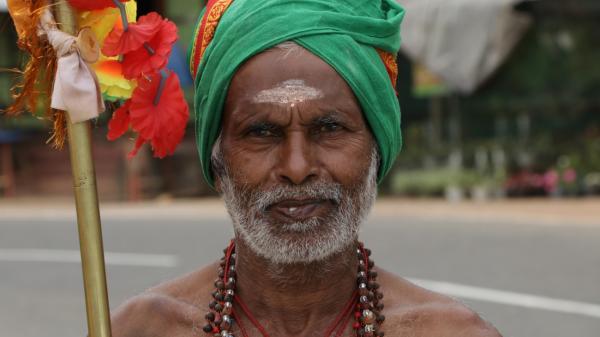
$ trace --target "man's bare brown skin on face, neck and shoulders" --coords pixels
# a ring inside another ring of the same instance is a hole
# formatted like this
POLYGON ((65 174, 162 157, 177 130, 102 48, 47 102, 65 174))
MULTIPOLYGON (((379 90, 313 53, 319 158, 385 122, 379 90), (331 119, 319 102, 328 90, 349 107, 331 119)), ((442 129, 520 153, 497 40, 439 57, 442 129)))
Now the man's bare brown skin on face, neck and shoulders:
MULTIPOLYGON (((373 149, 359 104, 325 62, 304 50, 286 54, 280 50, 259 54, 234 77, 222 125, 222 153, 231 179, 262 189, 312 180, 356 186, 373 149), (296 86, 293 93, 278 96, 279 89, 286 88, 282 83, 290 80, 295 82, 288 84, 302 83, 304 89, 296 86)), ((220 179, 217 186, 222 186, 220 179)), ((272 212, 273 221, 323 215, 335 207, 328 202, 295 203, 303 209, 290 214, 289 206, 274 205, 279 210, 272 212)), ((372 248, 377 260, 377 247, 372 248)), ((238 240, 237 293, 271 336, 321 336, 354 291, 354 250, 349 245, 322 261, 274 265, 238 240)), ((217 266, 159 285, 123 304, 113 315, 113 336, 204 336, 203 317, 217 266)), ((376 271, 385 295, 386 336, 500 336, 458 302, 380 268, 376 271)), ((244 326, 251 325, 245 320, 244 326)), ((242 336, 237 329, 233 332, 242 336)), ((253 329, 249 334, 260 336, 253 329)), ((344 336, 354 336, 350 324, 344 336)))

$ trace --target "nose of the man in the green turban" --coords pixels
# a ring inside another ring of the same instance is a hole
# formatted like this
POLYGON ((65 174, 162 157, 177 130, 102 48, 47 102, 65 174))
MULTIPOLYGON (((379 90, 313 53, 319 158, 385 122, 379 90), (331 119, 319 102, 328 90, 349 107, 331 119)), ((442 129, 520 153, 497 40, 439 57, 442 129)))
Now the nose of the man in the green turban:
POLYGON ((310 141, 303 132, 290 133, 280 151, 280 161, 275 170, 279 181, 301 185, 317 177, 318 162, 310 141))

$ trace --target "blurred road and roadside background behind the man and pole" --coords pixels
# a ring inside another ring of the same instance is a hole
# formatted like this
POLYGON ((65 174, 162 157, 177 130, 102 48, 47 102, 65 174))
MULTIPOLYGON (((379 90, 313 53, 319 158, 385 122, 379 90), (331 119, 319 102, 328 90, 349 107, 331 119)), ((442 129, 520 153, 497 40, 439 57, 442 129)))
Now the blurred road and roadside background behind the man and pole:
MULTIPOLYGON (((364 238, 376 261, 505 336, 600 336, 600 1, 400 0, 404 149, 364 238)), ((200 0, 139 0, 185 55, 200 0)), ((22 64, 0 1, 0 68, 22 64)), ((0 72, 0 109, 14 72, 0 72)), ((111 306, 218 258, 231 235, 193 122, 175 155, 94 122, 111 306), (110 255, 112 254, 112 255, 110 255)), ((0 115, 0 336, 83 336, 72 178, 50 125, 0 115)))

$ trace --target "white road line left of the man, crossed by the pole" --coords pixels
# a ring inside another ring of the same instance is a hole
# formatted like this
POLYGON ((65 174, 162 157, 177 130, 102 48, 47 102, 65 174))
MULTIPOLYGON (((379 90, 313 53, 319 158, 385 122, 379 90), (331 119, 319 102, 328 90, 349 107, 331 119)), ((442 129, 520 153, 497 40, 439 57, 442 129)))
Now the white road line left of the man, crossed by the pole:
MULTIPOLYGON (((107 265, 173 268, 179 264, 175 255, 104 252, 107 265)), ((0 261, 81 263, 78 250, 0 249, 0 261)))

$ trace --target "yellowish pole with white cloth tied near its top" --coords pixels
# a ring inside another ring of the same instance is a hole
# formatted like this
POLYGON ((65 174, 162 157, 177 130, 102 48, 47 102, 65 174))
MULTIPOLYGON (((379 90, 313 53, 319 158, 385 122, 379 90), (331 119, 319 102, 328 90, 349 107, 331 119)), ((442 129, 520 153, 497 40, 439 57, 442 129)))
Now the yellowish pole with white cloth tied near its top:
MULTIPOLYGON (((65 0, 57 0, 55 5, 61 29, 75 35, 77 24, 69 4, 65 0)), ((69 122, 68 134, 88 334, 90 337, 110 337, 110 312, 90 122, 69 122)))

